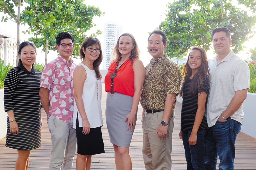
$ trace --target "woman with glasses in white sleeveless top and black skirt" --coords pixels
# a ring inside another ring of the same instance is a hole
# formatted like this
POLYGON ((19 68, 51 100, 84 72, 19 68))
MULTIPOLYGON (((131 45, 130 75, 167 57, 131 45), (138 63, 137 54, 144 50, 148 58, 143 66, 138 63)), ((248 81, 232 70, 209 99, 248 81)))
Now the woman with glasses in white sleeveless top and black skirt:
POLYGON ((89 37, 80 48, 82 62, 73 74, 74 115, 76 129, 77 158, 76 169, 90 169, 92 155, 104 153, 101 127, 101 44, 97 38, 89 37))

